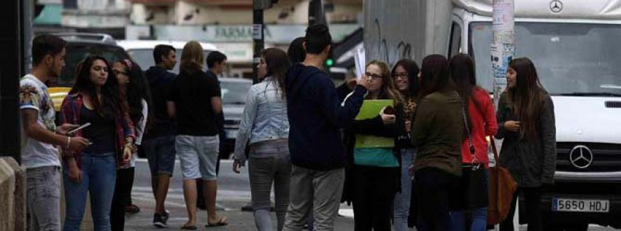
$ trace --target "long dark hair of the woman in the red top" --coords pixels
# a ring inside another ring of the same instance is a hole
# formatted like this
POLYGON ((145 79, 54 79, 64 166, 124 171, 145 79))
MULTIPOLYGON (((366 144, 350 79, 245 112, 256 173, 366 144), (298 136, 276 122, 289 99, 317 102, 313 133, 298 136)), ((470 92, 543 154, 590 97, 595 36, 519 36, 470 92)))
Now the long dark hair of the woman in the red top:
MULTIPOLYGON (((449 75, 455 83, 455 90, 462 97, 462 107, 466 112, 466 119, 468 121, 468 128, 472 130, 472 119, 468 110, 468 103, 472 99, 475 108, 482 112, 481 103, 474 97, 475 89, 477 86, 477 78, 475 74, 474 61, 468 54, 455 54, 451 61, 449 61, 449 75)), ((464 130, 464 132, 466 132, 464 130)))

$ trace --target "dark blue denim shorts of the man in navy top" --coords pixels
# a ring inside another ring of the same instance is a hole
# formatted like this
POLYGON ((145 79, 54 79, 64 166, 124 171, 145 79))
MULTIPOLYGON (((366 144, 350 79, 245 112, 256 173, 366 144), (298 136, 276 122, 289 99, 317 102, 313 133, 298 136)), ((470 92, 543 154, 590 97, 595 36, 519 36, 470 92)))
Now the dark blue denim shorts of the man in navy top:
POLYGON ((175 169, 175 136, 155 137, 143 141, 151 175, 168 174, 175 169))

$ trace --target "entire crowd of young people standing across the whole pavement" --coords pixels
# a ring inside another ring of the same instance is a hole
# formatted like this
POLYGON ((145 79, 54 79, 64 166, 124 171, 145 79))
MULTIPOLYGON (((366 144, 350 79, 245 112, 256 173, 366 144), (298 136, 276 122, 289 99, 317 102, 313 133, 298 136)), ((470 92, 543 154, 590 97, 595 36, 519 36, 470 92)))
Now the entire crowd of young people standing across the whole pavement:
MULTIPOLYGON (((541 188, 553 183, 555 170, 554 110, 529 59, 509 64, 508 87, 495 112, 467 54, 450 60, 432 54, 420 68, 409 59, 392 69, 371 61, 362 78, 336 88, 323 70, 331 41, 326 26, 314 25, 288 52, 269 48, 261 54, 262 82, 247 94, 233 163, 239 172, 248 161, 258 230, 274 226, 272 185, 277 230, 333 230, 342 202, 353 204, 354 230, 391 230, 391 224, 407 230, 408 217, 417 230, 485 230, 487 139, 494 135, 504 138, 498 161, 525 194, 529 230, 542 230, 541 188), (355 119, 366 100, 388 100, 393 107, 355 119), (392 139, 393 145, 359 146, 360 135, 392 139)), ((46 82, 60 74, 65 46, 59 37, 36 37, 32 71, 20 82, 30 228, 60 230, 62 175, 64 230, 80 229, 87 192, 95 229, 122 230, 135 153, 142 147, 157 203, 154 225, 168 227, 164 201, 175 153, 188 210, 181 228, 197 229, 197 179, 207 226, 226 225, 215 212, 222 111, 216 74, 226 56, 212 52, 205 62, 200 44, 190 41, 179 76, 167 71, 177 62, 170 46, 155 48, 157 65, 146 72, 130 60, 87 57, 77 66, 57 126, 46 82), (90 125, 70 132, 85 123, 90 125)), ((513 230, 514 210, 515 203, 501 230, 513 230)))

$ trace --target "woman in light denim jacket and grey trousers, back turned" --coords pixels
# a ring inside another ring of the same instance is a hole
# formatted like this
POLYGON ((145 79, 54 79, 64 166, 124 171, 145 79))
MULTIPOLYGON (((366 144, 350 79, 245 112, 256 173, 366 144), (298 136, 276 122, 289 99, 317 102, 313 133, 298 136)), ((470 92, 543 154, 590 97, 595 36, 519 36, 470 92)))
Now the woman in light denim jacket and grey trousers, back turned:
POLYGON ((290 66, 287 54, 279 49, 264 50, 259 63, 259 78, 248 91, 246 107, 235 141, 233 171, 246 162, 249 148, 248 171, 252 192, 255 224, 259 231, 272 230, 270 218, 270 190, 274 183, 278 230, 282 230, 289 205, 289 122, 285 101, 284 78, 290 66))

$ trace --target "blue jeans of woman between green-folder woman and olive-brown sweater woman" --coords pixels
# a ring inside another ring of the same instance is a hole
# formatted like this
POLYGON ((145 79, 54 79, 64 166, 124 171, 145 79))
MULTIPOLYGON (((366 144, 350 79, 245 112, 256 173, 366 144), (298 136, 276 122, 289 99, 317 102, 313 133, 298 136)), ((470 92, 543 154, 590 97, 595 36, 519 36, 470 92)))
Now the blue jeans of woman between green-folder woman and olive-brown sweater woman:
POLYGON ((408 228, 408 216, 410 214, 410 197, 412 193, 412 176, 408 168, 416 159, 415 148, 401 150, 401 192, 395 195, 395 231, 406 231, 408 228))

